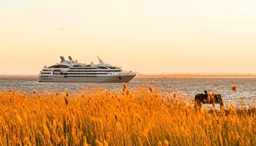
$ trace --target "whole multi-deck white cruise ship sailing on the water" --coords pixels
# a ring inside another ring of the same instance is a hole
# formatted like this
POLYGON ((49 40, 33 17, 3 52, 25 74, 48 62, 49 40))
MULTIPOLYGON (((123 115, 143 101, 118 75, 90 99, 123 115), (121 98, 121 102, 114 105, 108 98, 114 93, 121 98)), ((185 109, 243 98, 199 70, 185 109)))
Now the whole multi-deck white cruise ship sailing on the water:
POLYGON ((99 64, 81 64, 70 56, 69 60, 61 56, 59 64, 45 66, 40 71, 39 82, 129 82, 136 75, 98 59, 99 64))

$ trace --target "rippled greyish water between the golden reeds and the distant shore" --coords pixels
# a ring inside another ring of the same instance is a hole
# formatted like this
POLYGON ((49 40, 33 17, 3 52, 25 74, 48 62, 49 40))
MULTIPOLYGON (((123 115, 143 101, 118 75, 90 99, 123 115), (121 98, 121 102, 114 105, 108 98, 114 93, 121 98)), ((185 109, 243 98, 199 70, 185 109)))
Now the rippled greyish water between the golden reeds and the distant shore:
MULTIPOLYGON (((225 104, 256 106, 256 77, 209 77, 209 78, 135 78, 127 83, 128 88, 151 86, 159 91, 182 92, 187 99, 192 99, 196 93, 211 91, 223 96, 225 104), (237 86, 237 92, 231 86, 237 86)), ((121 91, 122 83, 72 83, 72 82, 37 82, 28 80, 0 80, 0 90, 14 89, 31 93, 32 91, 78 92, 89 88, 107 88, 110 91, 121 91)))

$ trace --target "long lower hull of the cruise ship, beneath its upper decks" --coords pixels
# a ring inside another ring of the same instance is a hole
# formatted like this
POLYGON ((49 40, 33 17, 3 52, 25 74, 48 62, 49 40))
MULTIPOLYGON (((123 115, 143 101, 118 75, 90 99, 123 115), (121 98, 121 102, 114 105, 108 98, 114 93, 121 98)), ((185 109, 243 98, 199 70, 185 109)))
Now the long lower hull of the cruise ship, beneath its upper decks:
POLYGON ((125 74, 119 76, 63 76, 48 75, 39 76, 39 82, 129 82, 135 74, 125 74))

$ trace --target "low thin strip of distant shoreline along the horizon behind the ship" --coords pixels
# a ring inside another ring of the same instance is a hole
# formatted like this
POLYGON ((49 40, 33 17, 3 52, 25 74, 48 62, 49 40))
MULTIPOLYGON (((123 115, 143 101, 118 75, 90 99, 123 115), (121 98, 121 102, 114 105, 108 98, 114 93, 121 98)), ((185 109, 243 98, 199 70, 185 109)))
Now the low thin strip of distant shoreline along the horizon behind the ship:
MULTIPOLYGON (((256 74, 138 74, 135 78, 234 78, 252 77, 256 74)), ((37 81, 38 75, 0 75, 0 80, 37 81)))

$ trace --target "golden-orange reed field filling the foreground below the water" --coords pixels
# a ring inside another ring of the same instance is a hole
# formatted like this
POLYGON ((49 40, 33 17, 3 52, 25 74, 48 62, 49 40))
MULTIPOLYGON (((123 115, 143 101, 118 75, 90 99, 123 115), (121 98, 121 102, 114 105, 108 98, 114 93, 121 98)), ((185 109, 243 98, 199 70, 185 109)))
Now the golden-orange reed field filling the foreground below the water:
POLYGON ((198 110, 152 88, 0 92, 0 145, 256 145, 255 110, 198 110))

